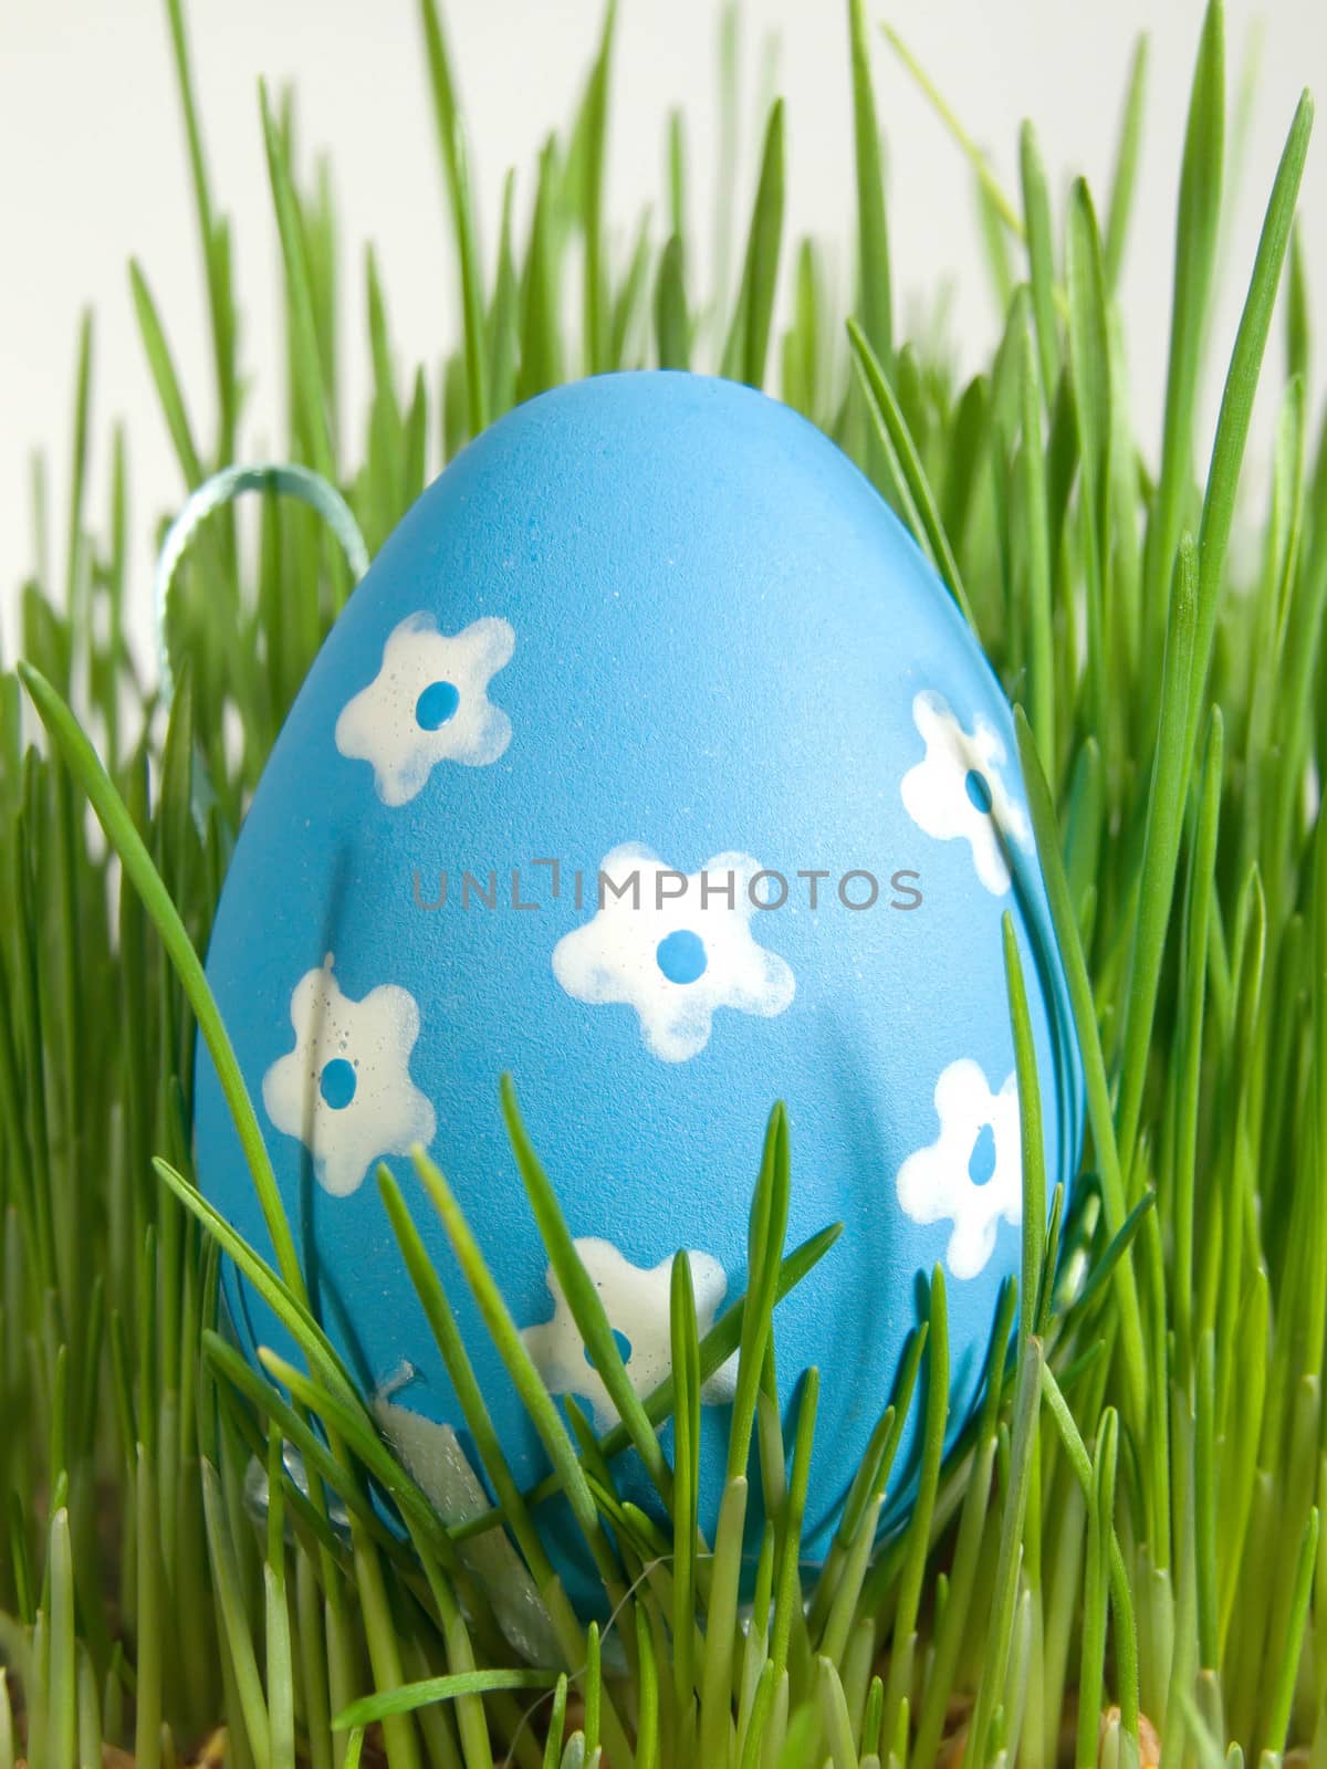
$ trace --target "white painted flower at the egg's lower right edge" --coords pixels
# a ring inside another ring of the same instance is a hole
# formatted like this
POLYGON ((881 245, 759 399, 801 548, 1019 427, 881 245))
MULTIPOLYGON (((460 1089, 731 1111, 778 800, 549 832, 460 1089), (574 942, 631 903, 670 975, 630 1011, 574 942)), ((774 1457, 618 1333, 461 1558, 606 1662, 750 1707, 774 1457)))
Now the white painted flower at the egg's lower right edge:
POLYGON ((936 1083, 936 1141, 899 1168, 899 1205, 913 1222, 952 1222, 948 1268, 955 1277, 977 1277, 994 1252, 1000 1217, 1023 1221, 1016 1077, 993 1093, 980 1063, 963 1056, 936 1083))

